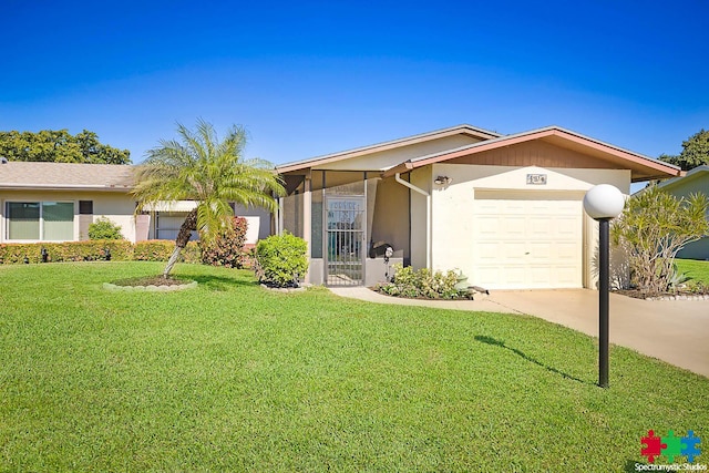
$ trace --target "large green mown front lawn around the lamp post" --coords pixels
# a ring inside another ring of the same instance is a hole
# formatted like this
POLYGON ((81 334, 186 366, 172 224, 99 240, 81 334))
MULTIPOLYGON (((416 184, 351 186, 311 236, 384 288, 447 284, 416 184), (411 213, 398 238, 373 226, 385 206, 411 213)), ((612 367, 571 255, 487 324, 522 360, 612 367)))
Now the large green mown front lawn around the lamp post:
POLYGON ((603 390, 542 320, 196 265, 102 289, 160 268, 0 266, 0 471, 635 471, 649 429, 709 436, 709 379, 613 347, 603 390))

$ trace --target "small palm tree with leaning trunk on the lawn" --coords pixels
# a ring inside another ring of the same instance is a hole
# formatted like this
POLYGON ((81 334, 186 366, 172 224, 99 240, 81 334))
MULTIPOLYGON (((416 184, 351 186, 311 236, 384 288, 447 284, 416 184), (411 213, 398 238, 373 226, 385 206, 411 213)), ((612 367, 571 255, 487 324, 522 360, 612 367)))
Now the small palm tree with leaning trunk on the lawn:
POLYGON ((165 278, 193 230, 209 241, 230 225, 230 202, 275 212, 278 204, 274 196, 285 193, 270 163, 243 157, 246 132, 240 126, 232 126, 222 142, 214 126, 203 120, 197 121, 194 131, 177 124, 177 132, 179 141, 161 140, 160 146, 147 152, 147 158, 136 168, 133 189, 138 203, 136 213, 158 202, 197 204, 179 228, 163 271, 165 278))

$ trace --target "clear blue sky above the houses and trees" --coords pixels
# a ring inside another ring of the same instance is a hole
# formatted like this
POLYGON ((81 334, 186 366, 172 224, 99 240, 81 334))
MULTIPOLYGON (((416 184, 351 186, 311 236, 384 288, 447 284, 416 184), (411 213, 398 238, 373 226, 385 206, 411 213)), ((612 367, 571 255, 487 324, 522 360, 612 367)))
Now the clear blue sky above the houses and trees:
POLYGON ((709 2, 3 0, 0 130, 94 131, 133 162, 175 123, 273 163, 469 123, 656 157, 709 127, 709 2))

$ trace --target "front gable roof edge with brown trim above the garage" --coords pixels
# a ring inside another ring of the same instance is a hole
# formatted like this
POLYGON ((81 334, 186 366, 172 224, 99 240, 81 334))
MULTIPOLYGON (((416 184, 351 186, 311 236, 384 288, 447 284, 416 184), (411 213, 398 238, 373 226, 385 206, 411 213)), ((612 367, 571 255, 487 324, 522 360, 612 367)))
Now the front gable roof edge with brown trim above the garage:
POLYGON ((674 166, 661 161, 644 156, 631 151, 620 148, 618 146, 604 143, 602 141, 584 136, 579 133, 564 130, 558 126, 547 126, 544 128, 532 130, 528 132, 517 133, 513 135, 500 136, 496 138, 461 146, 455 150, 449 150, 441 153, 430 154, 418 158, 409 160, 394 166, 383 173, 383 176, 392 176, 397 173, 407 173, 417 167, 427 166, 429 164, 442 163, 464 156, 471 156, 486 151, 497 150, 534 140, 544 141, 546 143, 565 147, 572 151, 584 153, 599 160, 609 162, 618 168, 630 169, 631 181, 649 181, 656 178, 667 178, 682 175, 678 166, 674 166))

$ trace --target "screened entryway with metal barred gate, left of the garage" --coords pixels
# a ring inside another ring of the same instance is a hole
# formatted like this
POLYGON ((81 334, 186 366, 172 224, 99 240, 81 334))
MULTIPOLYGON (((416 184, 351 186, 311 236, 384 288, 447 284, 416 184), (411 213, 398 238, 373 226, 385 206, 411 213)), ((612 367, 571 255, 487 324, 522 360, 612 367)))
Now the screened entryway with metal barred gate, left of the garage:
MULTIPOLYGON (((379 172, 312 169, 284 176, 276 232, 309 243, 308 281, 368 286, 383 280, 387 266, 373 248, 391 246, 392 261, 409 248, 409 191, 379 172)), ((393 265, 391 263, 390 265, 393 265)))

